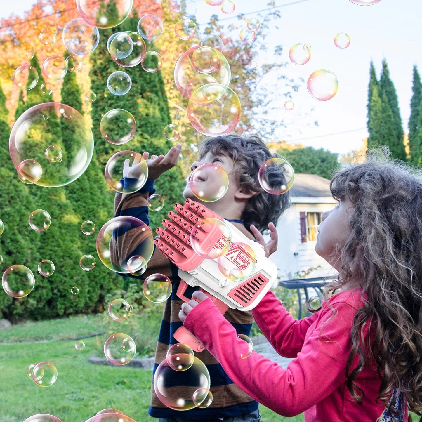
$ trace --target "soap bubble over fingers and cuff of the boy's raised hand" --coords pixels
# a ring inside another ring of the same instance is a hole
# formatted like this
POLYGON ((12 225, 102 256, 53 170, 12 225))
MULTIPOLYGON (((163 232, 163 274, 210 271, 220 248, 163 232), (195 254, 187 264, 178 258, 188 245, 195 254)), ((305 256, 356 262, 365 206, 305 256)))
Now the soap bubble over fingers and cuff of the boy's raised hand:
POLYGON ((108 185, 115 191, 133 193, 145 184, 148 177, 148 165, 141 154, 135 151, 119 151, 109 158, 105 175, 108 185), (131 176, 123 178, 125 168, 129 167, 132 168, 131 176))

